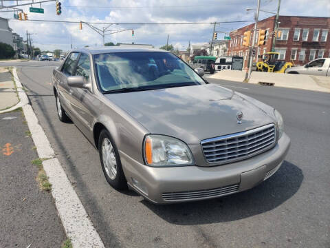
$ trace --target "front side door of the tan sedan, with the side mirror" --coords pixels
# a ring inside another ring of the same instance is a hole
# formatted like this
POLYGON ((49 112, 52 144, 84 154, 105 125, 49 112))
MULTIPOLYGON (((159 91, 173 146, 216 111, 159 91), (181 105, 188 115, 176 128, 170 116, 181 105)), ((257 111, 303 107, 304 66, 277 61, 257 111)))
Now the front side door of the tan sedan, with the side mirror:
MULTIPOLYGON (((88 54, 80 53, 78 58, 78 63, 76 65, 76 70, 74 76, 83 76, 86 81, 91 83, 91 63, 88 54)), ((92 90, 82 89, 78 87, 72 87, 72 101, 71 107, 74 114, 78 118, 78 127, 86 135, 90 136, 92 132, 92 125, 94 121, 94 116, 92 114, 91 106, 94 101, 94 94, 92 90)), ((87 137, 89 138, 89 137, 87 137)))

